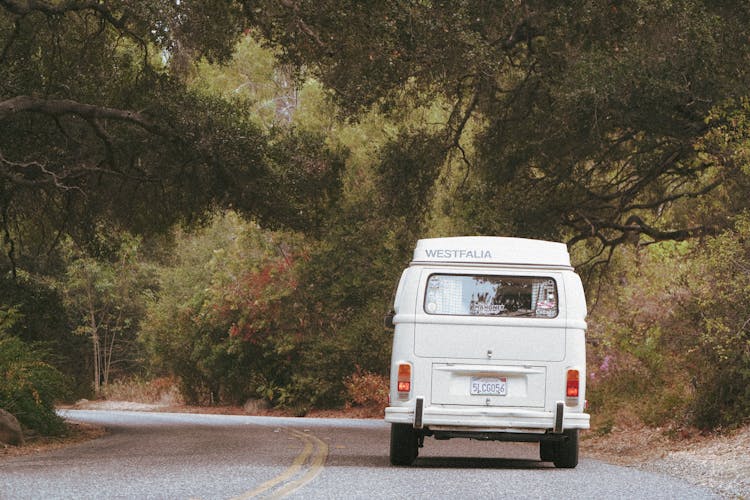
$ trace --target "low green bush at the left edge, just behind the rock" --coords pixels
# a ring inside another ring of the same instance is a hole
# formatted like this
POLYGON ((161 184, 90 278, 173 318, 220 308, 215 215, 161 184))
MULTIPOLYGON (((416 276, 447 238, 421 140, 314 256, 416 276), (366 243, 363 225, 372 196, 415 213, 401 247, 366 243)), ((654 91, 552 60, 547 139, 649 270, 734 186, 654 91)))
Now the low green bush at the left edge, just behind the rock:
POLYGON ((65 378, 45 361, 48 354, 8 334, 18 313, 0 309, 0 408, 44 435, 66 432, 54 403, 65 393, 65 378))

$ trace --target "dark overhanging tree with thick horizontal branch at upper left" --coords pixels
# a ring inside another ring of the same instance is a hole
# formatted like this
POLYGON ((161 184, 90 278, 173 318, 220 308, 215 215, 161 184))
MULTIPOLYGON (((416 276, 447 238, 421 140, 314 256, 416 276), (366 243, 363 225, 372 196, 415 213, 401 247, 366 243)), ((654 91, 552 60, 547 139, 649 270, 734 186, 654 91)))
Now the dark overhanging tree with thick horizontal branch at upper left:
POLYGON ((0 2, 3 268, 48 266, 62 235, 92 240, 102 220, 163 231, 232 205, 273 224, 298 212, 269 186, 319 199, 284 182, 335 178, 319 138, 271 135, 246 102, 189 84, 241 32, 234 2, 0 2))

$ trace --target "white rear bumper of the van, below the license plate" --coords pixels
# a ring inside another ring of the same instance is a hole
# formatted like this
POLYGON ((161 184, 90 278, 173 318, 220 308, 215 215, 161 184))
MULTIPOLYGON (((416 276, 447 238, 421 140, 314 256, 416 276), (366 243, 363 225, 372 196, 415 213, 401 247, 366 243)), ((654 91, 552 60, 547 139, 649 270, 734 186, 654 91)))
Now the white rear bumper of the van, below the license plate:
MULTIPOLYGON (((565 409, 563 429, 588 429, 589 414, 565 409)), ((389 406, 386 422, 415 423, 414 406, 389 406)), ((521 408, 439 407, 425 405, 421 426, 432 430, 476 430, 483 432, 545 432, 555 427, 555 412, 521 408)), ((421 427, 420 426, 420 427, 421 427)))

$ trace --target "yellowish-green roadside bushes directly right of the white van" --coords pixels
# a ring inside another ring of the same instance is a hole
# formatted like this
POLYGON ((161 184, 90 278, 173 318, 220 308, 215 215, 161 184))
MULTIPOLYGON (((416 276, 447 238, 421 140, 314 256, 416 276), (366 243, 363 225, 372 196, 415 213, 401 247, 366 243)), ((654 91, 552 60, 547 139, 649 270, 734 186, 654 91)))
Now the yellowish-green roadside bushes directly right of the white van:
POLYGON ((750 415, 748 217, 704 245, 617 253, 590 316, 594 413, 653 425, 742 425, 750 415))

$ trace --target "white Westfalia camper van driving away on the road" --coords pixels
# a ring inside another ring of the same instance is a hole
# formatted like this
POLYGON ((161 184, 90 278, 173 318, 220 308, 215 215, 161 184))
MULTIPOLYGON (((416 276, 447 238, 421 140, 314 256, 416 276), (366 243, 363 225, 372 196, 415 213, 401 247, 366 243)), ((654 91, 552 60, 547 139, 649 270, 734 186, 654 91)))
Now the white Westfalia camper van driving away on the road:
POLYGON ((541 460, 578 464, 586 299, 564 244, 419 240, 386 323, 392 464, 428 436, 539 442, 541 460))

